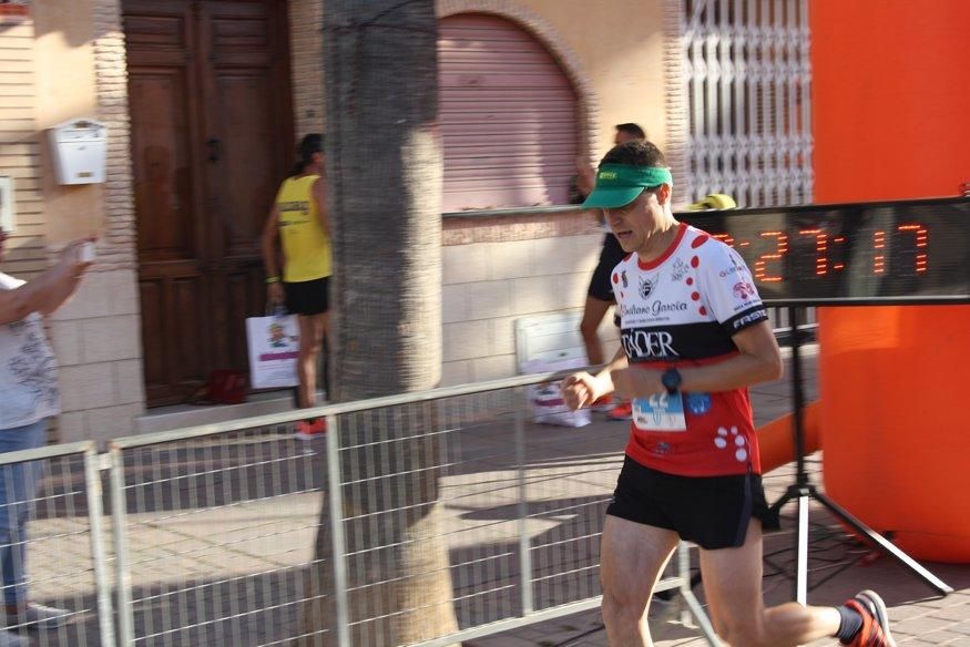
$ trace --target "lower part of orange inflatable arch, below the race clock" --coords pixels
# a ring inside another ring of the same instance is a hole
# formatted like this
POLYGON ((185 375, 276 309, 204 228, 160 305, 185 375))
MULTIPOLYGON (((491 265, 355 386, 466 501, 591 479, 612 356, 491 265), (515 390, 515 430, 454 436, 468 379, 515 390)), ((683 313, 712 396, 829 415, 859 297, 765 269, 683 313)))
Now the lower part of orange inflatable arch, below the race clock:
POLYGON ((825 490, 910 556, 970 563, 970 306, 819 309, 825 490))

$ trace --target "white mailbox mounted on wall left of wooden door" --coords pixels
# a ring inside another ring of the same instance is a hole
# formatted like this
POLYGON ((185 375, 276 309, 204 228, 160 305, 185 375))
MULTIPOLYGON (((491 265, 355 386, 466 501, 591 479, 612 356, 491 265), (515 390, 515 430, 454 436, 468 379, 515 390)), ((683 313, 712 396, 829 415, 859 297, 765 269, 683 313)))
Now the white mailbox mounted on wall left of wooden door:
POLYGON ((108 127, 94 120, 76 119, 48 131, 58 184, 104 182, 108 127))

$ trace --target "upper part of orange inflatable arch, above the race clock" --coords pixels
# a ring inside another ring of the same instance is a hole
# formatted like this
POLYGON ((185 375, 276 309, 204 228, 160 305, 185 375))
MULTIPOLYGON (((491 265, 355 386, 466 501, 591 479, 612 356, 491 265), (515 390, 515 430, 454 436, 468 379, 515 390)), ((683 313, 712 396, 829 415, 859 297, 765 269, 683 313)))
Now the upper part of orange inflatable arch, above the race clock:
POLYGON ((815 199, 970 182, 970 1, 811 0, 815 199))

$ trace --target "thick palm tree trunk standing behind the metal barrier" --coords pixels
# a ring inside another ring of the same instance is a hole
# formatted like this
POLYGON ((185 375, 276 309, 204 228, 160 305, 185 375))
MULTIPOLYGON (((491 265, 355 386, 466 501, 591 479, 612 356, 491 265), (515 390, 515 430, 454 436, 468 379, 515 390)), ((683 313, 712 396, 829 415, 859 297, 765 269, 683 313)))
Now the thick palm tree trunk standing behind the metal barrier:
MULTIPOLYGON (((325 0, 327 191, 334 223, 331 399, 432 388, 441 367, 441 145, 433 0, 325 0)), ((431 405, 340 421, 350 644, 457 629, 438 530, 431 405), (351 438, 353 437, 353 438, 351 438), (392 452, 381 451, 392 446, 392 452), (378 449, 381 448, 381 449, 378 449), (355 477, 348 477, 348 474, 355 477), (367 485, 361 485, 366 482, 367 485), (372 619, 380 616, 380 619, 372 619)), ((326 497, 325 497, 326 500, 326 497)), ((304 605, 305 645, 333 645, 329 509, 304 605), (320 631, 327 630, 326 634, 320 631)))

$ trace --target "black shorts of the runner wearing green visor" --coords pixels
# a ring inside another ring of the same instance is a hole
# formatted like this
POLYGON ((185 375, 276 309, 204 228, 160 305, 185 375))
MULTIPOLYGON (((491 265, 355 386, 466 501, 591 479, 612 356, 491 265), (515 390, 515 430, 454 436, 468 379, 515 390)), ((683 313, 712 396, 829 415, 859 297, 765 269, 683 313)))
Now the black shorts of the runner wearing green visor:
POLYGON ((630 456, 623 461, 606 514, 674 531, 708 551, 744 545, 752 517, 764 530, 779 527, 759 474, 678 476, 630 456))

